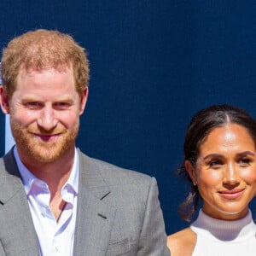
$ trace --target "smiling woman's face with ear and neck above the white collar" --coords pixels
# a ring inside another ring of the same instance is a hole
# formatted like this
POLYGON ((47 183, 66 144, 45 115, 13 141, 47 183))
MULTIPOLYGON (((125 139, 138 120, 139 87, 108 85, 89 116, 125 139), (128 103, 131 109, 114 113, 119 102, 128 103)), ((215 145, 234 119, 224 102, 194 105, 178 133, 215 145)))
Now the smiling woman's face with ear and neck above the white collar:
POLYGON ((203 199, 203 212, 226 220, 247 214, 256 192, 256 151, 243 126, 212 130, 201 143, 195 168, 189 161, 185 165, 203 199))

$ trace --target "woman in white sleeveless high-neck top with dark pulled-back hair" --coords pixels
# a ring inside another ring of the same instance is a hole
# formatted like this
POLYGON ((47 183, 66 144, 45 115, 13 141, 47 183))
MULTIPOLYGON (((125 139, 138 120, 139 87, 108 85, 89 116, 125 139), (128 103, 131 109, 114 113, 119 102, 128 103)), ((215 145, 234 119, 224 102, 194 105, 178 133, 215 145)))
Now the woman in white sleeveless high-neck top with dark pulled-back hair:
POLYGON ((248 208, 256 192, 256 122, 248 113, 216 105, 196 113, 184 142, 179 174, 191 183, 180 208, 190 227, 168 236, 172 256, 256 255, 256 225, 248 208))

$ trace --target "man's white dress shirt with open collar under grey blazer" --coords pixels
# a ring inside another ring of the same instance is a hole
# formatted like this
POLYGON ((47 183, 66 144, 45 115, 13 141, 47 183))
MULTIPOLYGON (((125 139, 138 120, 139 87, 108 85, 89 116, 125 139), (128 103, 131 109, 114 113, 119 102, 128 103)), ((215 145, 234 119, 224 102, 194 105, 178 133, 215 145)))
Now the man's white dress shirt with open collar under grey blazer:
POLYGON ((16 148, 14 153, 26 190, 41 255, 72 256, 79 191, 79 155, 77 150, 75 150, 70 177, 61 189, 61 197, 63 201, 66 201, 66 206, 61 212, 58 222, 49 208, 50 193, 47 183, 35 177, 23 165, 16 148))

